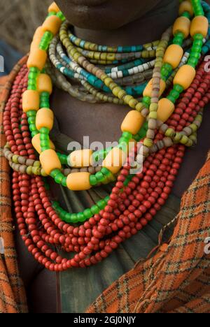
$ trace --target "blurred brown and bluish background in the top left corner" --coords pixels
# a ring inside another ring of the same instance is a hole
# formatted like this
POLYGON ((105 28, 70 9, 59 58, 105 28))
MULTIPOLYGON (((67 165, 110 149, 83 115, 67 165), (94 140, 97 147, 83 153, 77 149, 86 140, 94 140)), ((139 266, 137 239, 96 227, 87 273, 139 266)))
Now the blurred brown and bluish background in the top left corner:
MULTIPOLYGON (((34 31, 43 22, 51 2, 52 0, 0 0, 0 77, 7 75, 15 62, 29 51, 34 31)), ((210 0, 207 2, 210 3, 210 0)))

